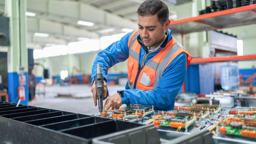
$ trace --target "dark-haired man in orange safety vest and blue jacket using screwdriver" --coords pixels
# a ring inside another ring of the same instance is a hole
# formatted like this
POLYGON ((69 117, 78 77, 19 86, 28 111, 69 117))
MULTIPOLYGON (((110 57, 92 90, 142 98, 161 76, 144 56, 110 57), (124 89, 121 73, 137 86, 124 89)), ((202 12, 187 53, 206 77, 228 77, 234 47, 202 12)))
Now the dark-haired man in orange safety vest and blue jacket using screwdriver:
MULTIPOLYGON (((98 53, 92 67, 92 80, 98 63, 107 81, 108 69, 128 59, 125 90, 109 96, 103 110, 118 109, 122 104, 154 105, 156 110, 172 110, 192 57, 168 29, 171 21, 166 4, 160 0, 146 0, 137 14, 138 30, 127 33, 98 53)), ((103 97, 107 91, 106 82, 104 87, 103 97)), ((91 91, 96 106, 94 82, 91 91)))

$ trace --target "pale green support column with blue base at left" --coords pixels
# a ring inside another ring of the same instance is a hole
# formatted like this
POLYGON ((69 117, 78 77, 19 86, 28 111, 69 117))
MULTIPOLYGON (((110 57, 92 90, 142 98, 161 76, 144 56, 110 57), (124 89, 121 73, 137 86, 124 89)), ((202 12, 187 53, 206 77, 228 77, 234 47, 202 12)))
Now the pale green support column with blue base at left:
POLYGON ((28 56, 27 56, 27 0, 5 0, 5 15, 10 18, 10 46, 8 46, 8 94, 9 102, 18 102, 19 68, 26 76, 25 97, 21 104, 28 104, 28 56))

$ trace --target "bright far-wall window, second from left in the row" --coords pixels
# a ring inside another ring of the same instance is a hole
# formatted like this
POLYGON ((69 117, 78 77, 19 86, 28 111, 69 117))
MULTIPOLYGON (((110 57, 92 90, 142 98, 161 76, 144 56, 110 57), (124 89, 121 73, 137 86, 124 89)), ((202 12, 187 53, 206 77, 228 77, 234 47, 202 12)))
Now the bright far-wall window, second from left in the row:
POLYGON ((67 46, 66 45, 54 45, 45 47, 43 49, 44 57, 55 57, 59 55, 66 55, 67 54, 67 46))

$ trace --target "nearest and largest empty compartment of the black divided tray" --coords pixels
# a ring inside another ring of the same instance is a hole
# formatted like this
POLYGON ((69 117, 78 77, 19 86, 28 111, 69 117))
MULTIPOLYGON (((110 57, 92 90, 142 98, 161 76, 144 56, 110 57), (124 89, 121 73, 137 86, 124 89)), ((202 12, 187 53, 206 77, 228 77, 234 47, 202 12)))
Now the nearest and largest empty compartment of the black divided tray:
POLYGON ((92 140, 97 136, 111 134, 113 132, 118 132, 122 130, 131 129, 133 127, 142 126, 138 123, 131 123, 125 121, 114 121, 109 120, 105 122, 99 122, 91 125, 79 126, 70 129, 60 130, 66 134, 71 134, 75 136, 79 136, 82 138, 86 138, 88 140, 92 140))

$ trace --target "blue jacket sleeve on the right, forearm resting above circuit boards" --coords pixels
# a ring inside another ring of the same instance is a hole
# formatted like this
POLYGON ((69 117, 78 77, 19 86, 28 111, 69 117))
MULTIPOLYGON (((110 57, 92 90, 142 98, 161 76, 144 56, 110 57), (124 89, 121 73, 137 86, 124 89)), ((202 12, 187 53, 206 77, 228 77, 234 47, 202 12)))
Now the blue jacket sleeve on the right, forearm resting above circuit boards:
POLYGON ((184 82, 187 69, 186 57, 185 53, 181 53, 173 59, 154 90, 119 90, 123 104, 154 105, 161 109, 171 105, 184 82))

